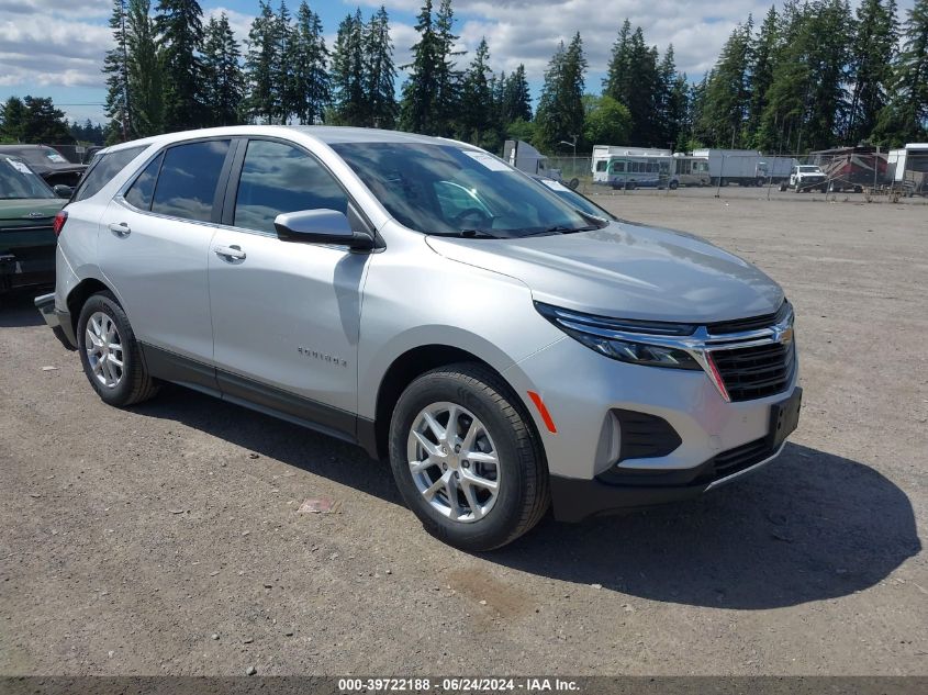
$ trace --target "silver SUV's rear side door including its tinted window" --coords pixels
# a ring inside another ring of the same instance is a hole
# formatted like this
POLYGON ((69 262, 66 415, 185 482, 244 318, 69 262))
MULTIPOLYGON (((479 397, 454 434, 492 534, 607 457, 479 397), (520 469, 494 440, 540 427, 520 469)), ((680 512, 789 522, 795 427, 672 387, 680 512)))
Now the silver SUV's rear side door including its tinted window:
POLYGON ((138 340, 198 362, 213 357, 206 259, 232 144, 214 138, 158 153, 100 225, 100 266, 138 340))

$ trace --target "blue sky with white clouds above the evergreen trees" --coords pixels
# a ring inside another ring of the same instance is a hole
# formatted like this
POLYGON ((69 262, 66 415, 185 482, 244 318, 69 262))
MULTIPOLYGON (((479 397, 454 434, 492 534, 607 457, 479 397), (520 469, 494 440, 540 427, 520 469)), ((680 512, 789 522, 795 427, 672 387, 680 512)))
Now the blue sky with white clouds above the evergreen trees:
MULTIPOLYGON (((275 7, 278 2, 272 0, 275 7)), ((369 15, 381 3, 390 13, 399 65, 416 41, 413 25, 422 0, 313 0, 310 7, 322 18, 331 46, 347 13, 360 7, 369 15)), ((291 10, 298 4, 299 0, 288 0, 291 10)), ((600 89, 610 48, 626 16, 633 25, 642 26, 647 41, 661 52, 672 43, 678 67, 701 78, 735 24, 749 12, 759 21, 770 4, 771 0, 454 1, 459 48, 472 52, 485 36, 494 70, 508 72, 525 64, 536 98, 558 42, 575 31, 583 37, 590 63, 590 91, 600 89)), ((899 4, 906 9, 912 0, 899 4)), ((206 15, 225 11, 236 36, 244 41, 258 0, 204 0, 201 7, 206 15)), ((0 0, 0 100, 12 94, 52 97, 68 117, 103 121, 105 88, 100 68, 112 43, 107 26, 110 12, 111 0, 0 0)), ((467 63, 469 55, 460 60, 467 63)))

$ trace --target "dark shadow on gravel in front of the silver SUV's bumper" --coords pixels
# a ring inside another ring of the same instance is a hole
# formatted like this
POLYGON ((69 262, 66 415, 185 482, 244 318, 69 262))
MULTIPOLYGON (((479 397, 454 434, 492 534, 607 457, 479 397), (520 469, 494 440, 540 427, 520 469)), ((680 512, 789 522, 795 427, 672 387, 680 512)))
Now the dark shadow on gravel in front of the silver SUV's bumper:
POLYGON ((845 596, 918 553, 912 504, 872 468, 790 444, 698 500, 580 525, 550 517, 484 559, 652 601, 757 609, 845 596))

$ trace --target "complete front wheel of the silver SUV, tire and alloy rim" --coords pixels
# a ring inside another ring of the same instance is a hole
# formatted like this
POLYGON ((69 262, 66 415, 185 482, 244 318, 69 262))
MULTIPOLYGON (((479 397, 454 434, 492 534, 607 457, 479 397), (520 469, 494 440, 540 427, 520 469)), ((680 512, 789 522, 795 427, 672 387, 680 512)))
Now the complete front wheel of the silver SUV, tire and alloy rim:
POLYGON ((480 365, 426 372, 400 396, 390 464, 406 505, 463 550, 504 546, 548 508, 548 471, 521 403, 480 365))

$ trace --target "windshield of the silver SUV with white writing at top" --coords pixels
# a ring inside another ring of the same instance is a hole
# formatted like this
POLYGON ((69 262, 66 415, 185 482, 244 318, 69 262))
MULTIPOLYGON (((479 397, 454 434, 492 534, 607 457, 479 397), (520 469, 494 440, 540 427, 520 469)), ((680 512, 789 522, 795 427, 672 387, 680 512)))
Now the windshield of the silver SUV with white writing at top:
POLYGON ((409 143, 332 147, 393 218, 423 234, 517 238, 596 228, 482 150, 409 143))

